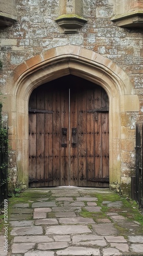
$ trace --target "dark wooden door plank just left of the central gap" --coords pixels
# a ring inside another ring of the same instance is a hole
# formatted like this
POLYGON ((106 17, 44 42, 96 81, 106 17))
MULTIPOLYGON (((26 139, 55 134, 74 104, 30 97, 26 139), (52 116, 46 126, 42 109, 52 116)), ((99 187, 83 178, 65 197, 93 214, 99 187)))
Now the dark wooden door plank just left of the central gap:
POLYGON ((61 111, 61 140, 60 140, 60 185, 69 185, 69 110, 68 110, 68 89, 61 90, 60 111, 61 111), (63 129, 65 132, 62 132, 63 129))

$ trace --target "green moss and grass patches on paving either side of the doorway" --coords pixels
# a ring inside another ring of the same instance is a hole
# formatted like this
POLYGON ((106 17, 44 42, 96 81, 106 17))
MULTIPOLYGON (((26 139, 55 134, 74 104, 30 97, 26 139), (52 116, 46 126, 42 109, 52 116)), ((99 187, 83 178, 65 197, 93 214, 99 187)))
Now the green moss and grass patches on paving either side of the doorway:
MULTIPOLYGON (((118 214, 128 218, 129 221, 137 221, 143 226, 143 215, 141 215, 141 212, 138 208, 138 205, 135 201, 131 199, 126 199, 124 197, 121 197, 120 195, 117 195, 115 193, 111 193, 106 191, 106 193, 90 193, 87 191, 87 193, 84 193, 84 195, 81 196, 90 196, 90 197, 96 197, 98 198, 98 201, 96 201, 98 206, 101 206, 101 212, 89 212, 86 209, 82 208, 82 211, 79 212, 79 215, 84 218, 93 218, 94 221, 96 221, 97 218, 105 218, 106 212, 117 212, 118 214), (102 205, 103 201, 122 201, 123 206, 120 206, 120 208, 113 208, 108 207, 108 204, 102 205)), ((23 191, 19 194, 19 197, 11 197, 9 198, 9 215, 11 214, 11 209, 13 205, 19 204, 19 203, 28 203, 31 207, 33 202, 37 202, 38 199, 44 199, 48 198, 47 201, 54 201, 55 197, 52 196, 52 192, 50 189, 41 191, 41 189, 28 189, 26 191, 23 191)), ((73 197, 73 200, 76 200, 76 197, 73 197)), ((94 201, 94 200, 93 200, 94 201)), ((85 201, 85 206, 86 206, 85 201)), ((108 217, 109 218, 109 217, 108 217)), ((0 214, 0 234, 3 232, 4 227, 4 216, 3 214, 0 214)))

